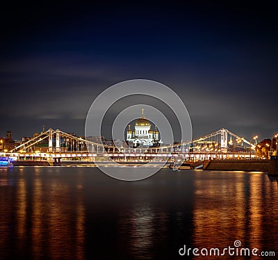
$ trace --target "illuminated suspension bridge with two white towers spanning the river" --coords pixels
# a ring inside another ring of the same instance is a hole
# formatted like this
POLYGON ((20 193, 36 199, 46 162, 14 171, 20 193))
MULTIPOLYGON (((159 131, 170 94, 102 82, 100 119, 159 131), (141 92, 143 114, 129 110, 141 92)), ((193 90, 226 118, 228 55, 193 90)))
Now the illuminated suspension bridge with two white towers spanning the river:
MULTIPOLYGON (((254 141, 254 140, 253 140, 254 141)), ((48 129, 7 152, 6 156, 19 160, 63 161, 153 161, 183 159, 199 161, 204 159, 254 158, 255 144, 236 136, 227 129, 220 129, 195 140, 161 147, 130 148, 106 145, 101 140, 76 137, 59 129, 48 129)))

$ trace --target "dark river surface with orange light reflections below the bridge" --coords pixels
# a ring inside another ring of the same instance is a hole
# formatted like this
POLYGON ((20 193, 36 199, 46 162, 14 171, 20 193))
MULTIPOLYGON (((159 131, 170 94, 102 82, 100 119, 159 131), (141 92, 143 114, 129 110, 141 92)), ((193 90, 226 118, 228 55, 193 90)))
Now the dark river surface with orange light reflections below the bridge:
POLYGON ((127 182, 97 168, 0 168, 0 259, 176 259, 183 245, 236 240, 278 259, 267 174, 162 169, 127 182))

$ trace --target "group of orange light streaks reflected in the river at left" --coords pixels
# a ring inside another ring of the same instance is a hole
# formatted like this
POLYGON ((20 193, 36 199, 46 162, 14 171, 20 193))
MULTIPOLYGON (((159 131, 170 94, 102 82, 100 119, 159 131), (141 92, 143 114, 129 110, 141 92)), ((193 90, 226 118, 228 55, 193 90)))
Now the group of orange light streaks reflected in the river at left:
POLYGON ((83 180, 46 178, 44 171, 18 168, 1 176, 13 179, 15 190, 0 189, 0 259, 84 259, 83 180))

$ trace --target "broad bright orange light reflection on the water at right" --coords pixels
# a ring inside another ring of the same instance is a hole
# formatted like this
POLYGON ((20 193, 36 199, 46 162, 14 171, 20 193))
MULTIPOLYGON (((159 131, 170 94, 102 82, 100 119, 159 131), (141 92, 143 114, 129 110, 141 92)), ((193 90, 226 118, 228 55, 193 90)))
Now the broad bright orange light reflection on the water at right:
POLYGON ((195 179, 193 245, 277 250, 277 186, 266 174, 208 173, 195 179), (236 175, 235 175, 236 174, 236 175), (272 237, 272 239, 269 239, 272 237))

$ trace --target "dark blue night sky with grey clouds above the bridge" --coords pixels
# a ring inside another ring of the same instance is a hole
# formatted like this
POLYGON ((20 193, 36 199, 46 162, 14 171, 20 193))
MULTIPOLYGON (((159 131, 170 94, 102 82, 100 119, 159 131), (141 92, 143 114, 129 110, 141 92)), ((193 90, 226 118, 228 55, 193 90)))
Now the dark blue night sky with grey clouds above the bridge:
POLYGON ((83 136, 97 95, 120 81, 151 79, 181 97, 194 137, 224 127, 271 138, 277 9, 194 2, 1 6, 0 136, 32 136, 43 125, 83 136))

